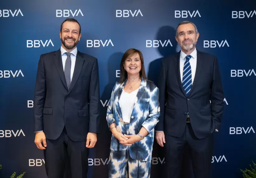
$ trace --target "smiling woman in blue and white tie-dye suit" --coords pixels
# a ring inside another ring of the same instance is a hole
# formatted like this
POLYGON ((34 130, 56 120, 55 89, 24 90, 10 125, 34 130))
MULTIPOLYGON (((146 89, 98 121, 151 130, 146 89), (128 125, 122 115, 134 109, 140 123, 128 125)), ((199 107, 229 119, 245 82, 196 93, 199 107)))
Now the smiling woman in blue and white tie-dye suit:
POLYGON ((107 108, 112 132, 109 177, 149 178, 154 127, 160 115, 159 89, 146 79, 137 49, 125 52, 120 71, 107 108))

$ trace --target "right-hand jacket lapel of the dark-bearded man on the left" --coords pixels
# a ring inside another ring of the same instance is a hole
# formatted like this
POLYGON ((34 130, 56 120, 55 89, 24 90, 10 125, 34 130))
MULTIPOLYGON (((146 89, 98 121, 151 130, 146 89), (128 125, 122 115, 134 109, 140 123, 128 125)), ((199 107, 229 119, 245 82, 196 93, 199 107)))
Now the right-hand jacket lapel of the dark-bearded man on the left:
POLYGON ((71 81, 68 93, 71 92, 75 83, 77 82, 77 79, 78 79, 81 69, 83 67, 83 62, 84 62, 83 55, 79 51, 77 51, 74 73, 73 73, 73 77, 72 77, 72 81, 71 81))

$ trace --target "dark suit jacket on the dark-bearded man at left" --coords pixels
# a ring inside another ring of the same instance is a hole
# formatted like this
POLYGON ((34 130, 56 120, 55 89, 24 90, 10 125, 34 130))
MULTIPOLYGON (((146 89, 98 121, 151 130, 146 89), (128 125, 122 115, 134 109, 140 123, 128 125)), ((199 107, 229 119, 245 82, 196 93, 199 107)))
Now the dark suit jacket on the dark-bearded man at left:
POLYGON ((34 98, 35 131, 57 139, 66 127, 73 141, 98 133, 99 75, 97 59, 77 52, 74 73, 68 90, 61 51, 42 54, 38 63, 34 98))

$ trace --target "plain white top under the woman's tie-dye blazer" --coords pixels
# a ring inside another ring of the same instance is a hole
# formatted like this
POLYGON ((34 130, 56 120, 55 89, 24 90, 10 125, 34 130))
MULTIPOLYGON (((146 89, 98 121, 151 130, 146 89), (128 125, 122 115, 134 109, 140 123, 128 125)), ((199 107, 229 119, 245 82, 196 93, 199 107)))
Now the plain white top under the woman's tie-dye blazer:
POLYGON ((126 93, 123 90, 120 96, 119 104, 122 112, 122 119, 124 122, 130 123, 130 117, 138 90, 139 88, 135 91, 132 91, 131 93, 126 93))

